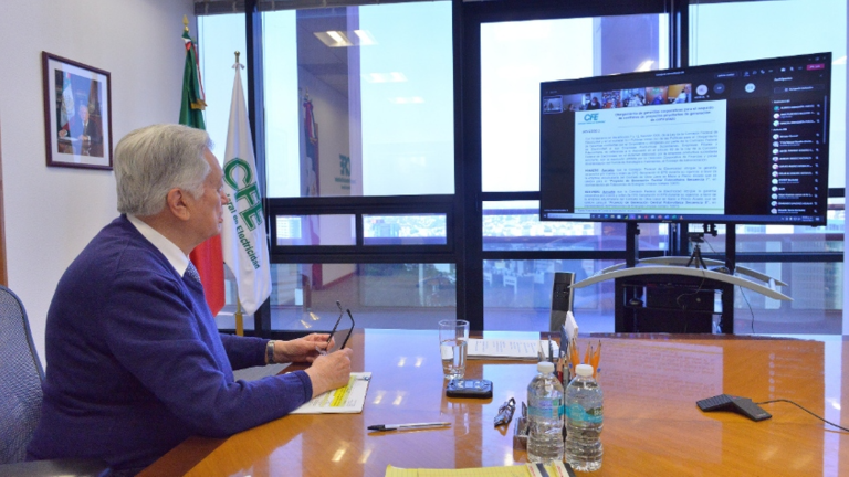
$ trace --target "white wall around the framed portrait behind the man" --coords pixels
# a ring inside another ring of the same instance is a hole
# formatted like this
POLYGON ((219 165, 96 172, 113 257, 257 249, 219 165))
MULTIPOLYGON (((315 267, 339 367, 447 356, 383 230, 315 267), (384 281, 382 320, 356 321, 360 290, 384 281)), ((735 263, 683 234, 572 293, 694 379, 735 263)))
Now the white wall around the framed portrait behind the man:
POLYGON ((191 0, 3 0, 0 137, 9 287, 27 307, 44 361, 59 278, 117 216, 112 171, 48 168, 41 52, 112 75, 113 146, 130 130, 179 118, 191 0))

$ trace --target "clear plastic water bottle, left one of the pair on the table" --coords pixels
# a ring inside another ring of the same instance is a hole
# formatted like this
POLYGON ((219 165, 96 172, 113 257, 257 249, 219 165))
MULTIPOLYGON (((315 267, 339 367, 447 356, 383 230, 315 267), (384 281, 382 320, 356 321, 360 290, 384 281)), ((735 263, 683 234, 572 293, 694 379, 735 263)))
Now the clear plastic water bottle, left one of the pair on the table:
POLYGON ((527 460, 563 462, 563 385, 554 363, 541 362, 536 370, 527 385, 527 460))

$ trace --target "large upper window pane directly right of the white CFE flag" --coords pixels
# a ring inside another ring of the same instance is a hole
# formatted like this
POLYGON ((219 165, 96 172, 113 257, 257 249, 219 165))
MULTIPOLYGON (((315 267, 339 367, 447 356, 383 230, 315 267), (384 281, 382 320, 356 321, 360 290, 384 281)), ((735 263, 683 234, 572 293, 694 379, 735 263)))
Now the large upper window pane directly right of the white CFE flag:
POLYGON ((451 3, 263 14, 269 197, 451 194, 451 3))

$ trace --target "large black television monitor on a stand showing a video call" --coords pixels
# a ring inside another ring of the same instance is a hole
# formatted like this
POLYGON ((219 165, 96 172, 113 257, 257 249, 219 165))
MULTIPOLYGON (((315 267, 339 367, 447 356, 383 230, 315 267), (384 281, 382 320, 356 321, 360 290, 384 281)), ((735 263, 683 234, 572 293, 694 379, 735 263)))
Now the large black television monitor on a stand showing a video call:
POLYGON ((541 220, 824 225, 831 53, 541 84, 541 220))

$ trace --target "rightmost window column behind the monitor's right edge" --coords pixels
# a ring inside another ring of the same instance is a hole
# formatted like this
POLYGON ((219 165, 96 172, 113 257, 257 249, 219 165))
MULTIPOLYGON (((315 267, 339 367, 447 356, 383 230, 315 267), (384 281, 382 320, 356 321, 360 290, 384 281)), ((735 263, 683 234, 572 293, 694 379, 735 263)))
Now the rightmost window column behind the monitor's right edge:
MULTIPOLYGON (((691 4, 693 65, 831 52, 831 190, 846 187, 847 3, 821 0, 691 4)), ((790 303, 735 293, 735 332, 840 333, 843 296, 843 198, 829 200, 828 224, 737 225, 736 254, 748 266, 788 283, 790 303)), ((725 227, 708 237, 724 252, 725 227)), ((708 247, 702 247, 709 252, 708 247)), ((737 288, 738 289, 738 288, 737 288)))

